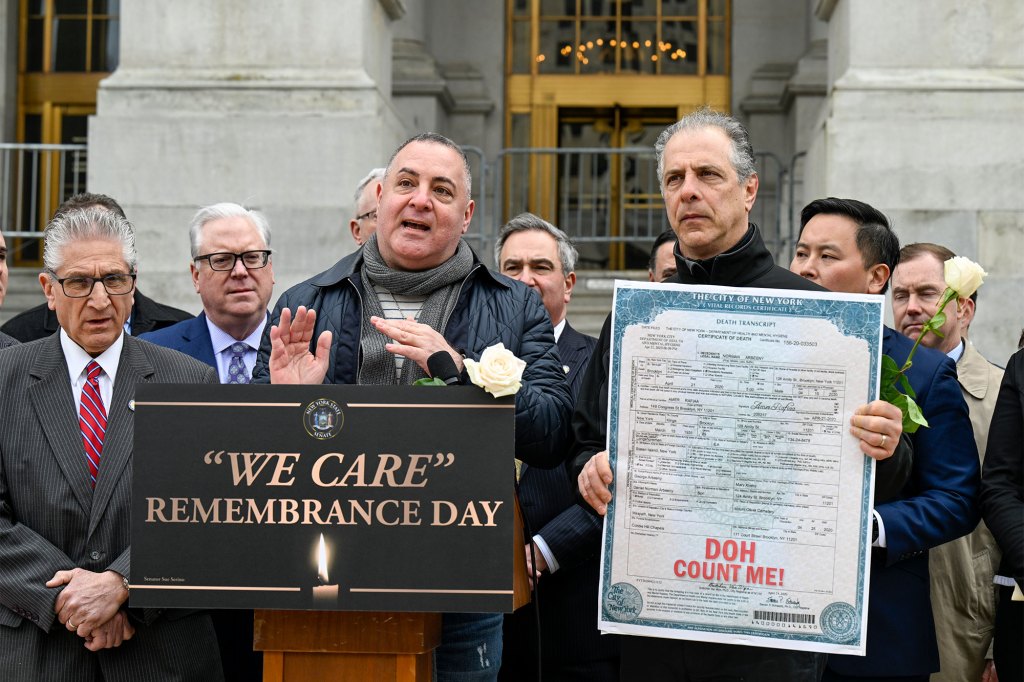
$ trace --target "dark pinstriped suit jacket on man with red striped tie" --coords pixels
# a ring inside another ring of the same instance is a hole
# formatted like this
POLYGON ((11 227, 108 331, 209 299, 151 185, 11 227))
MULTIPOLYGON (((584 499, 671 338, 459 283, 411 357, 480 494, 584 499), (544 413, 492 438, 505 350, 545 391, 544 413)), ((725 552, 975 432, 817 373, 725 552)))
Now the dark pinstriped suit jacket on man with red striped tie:
POLYGON ((60 336, 0 353, 0 679, 221 679, 209 616, 129 609, 135 637, 92 653, 55 620, 58 590, 45 587, 74 567, 129 576, 136 384, 216 379, 126 335, 93 488, 60 336))

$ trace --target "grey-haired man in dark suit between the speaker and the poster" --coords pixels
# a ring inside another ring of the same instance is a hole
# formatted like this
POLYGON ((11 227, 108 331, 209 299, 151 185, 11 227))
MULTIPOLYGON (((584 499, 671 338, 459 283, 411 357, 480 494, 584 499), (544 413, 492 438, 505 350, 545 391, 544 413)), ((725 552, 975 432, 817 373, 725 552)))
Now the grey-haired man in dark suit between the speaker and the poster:
MULTIPOLYGON (((572 329, 565 311, 575 284, 577 250, 548 221, 522 213, 499 232, 495 261, 502 274, 541 296, 573 399, 597 339, 572 329)), ((537 677, 540 643, 545 680, 618 679, 614 637, 597 630, 601 522, 575 503, 564 467, 519 466, 519 503, 532 543, 525 546, 535 600, 505 616, 500 680, 537 677), (537 619, 540 614, 540 641, 537 619)))

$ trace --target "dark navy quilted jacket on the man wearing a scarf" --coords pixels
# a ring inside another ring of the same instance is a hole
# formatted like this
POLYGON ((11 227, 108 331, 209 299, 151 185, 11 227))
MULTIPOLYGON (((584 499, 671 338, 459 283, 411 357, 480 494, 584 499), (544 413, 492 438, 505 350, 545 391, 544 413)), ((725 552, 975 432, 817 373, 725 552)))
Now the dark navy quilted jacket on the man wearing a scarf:
MULTIPOLYGON (((311 350, 322 332, 330 330, 333 335, 325 383, 358 383, 365 295, 359 275, 361 253, 346 256, 331 269, 292 287, 278 300, 263 332, 253 369, 254 383, 270 380, 270 328, 278 324, 283 308, 294 311, 300 305, 316 310, 311 350)), ((474 261, 444 326, 444 340, 475 360, 497 343, 525 360, 522 388, 515 396, 516 456, 535 466, 558 466, 570 433, 572 400, 548 311, 528 287, 489 271, 475 256, 474 261)))

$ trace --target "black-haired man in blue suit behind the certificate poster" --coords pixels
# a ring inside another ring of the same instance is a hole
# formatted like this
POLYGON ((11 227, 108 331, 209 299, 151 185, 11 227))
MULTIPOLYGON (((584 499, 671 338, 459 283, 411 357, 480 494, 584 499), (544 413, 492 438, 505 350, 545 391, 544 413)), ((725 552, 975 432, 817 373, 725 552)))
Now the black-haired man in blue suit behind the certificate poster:
MULTIPOLYGON (((882 294, 899 240, 878 209, 848 199, 804 207, 790 269, 831 291, 882 294)), ((902 367, 913 342, 888 327, 882 351, 902 367)), ((910 435, 910 478, 895 499, 876 501, 867 654, 830 655, 823 680, 926 682, 939 669, 929 597, 929 550, 978 524, 978 450, 956 367, 920 347, 907 373, 928 428, 910 435)))

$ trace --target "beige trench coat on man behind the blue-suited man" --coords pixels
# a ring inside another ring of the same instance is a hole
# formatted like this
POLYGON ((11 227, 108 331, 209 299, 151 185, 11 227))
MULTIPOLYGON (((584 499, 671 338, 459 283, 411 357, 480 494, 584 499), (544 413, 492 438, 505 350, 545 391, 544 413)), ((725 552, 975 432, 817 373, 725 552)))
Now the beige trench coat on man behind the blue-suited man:
MULTIPOLYGON (((956 379, 971 411, 971 426, 981 464, 985 462, 988 425, 1002 382, 1002 370, 964 340, 956 360, 956 379)), ((980 680, 985 658, 991 657, 995 625, 995 586, 999 548, 982 521, 969 536, 940 545, 929 553, 932 614, 939 644, 941 670, 932 682, 980 680)))

